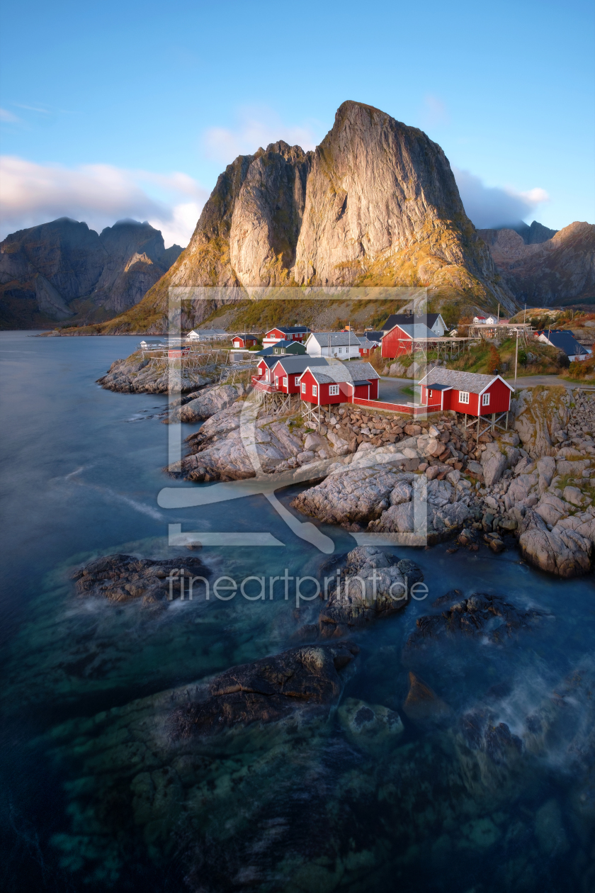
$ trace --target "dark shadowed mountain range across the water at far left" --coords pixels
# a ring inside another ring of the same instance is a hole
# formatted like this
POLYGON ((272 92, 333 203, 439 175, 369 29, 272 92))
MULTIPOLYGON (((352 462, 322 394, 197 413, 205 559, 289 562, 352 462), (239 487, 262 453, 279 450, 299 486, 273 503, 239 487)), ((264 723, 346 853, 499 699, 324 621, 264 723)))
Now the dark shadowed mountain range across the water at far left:
POLYGON ((0 243, 0 328, 103 321, 136 305, 178 259, 149 223, 118 221, 101 235, 67 217, 0 243))

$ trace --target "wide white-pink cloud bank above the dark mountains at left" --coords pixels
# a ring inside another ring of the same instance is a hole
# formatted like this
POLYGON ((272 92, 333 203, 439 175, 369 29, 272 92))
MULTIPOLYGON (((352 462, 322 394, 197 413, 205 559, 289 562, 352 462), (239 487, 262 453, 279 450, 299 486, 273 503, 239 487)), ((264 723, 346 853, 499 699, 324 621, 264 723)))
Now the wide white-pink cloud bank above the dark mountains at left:
POLYGON ((128 171, 110 164, 66 168, 0 157, 0 238, 57 217, 97 231, 124 217, 150 221, 166 246, 186 246, 207 192, 184 173, 128 171))

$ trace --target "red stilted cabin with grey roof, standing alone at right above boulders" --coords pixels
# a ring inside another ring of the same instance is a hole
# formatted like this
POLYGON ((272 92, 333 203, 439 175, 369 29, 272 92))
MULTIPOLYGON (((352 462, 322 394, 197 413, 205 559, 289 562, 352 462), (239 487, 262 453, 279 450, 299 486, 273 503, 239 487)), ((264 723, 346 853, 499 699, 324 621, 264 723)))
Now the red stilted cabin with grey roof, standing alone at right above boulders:
POLYGON ((492 416, 491 427, 510 409, 514 388, 500 375, 479 375, 437 366, 420 380, 421 403, 429 413, 453 410, 480 419, 492 416))

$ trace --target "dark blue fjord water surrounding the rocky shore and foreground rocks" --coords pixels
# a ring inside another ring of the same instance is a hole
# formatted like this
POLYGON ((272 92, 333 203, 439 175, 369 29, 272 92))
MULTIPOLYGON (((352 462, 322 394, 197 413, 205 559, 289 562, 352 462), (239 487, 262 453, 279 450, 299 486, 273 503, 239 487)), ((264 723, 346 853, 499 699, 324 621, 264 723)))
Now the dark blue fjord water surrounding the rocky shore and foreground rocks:
MULTIPOLYGON (((343 702, 401 711, 396 743, 348 736, 336 712, 218 736, 192 758, 155 743, 168 689, 293 647, 319 603, 296 609, 277 588, 273 600, 199 598, 154 613, 77 597, 70 569, 113 552, 187 555, 168 547, 170 523, 283 542, 194 553, 238 583, 285 568, 318 576, 327 556, 264 497, 159 507, 172 486, 166 397, 95 383, 136 342, 0 334, 3 889, 594 889, 592 578, 553 580, 514 548, 399 550, 422 567, 429 597, 358 631, 343 674, 343 702), (501 644, 405 649, 416 618, 455 587, 543 617, 501 644), (445 722, 402 714, 409 671, 447 705, 445 722), (506 723, 522 750, 474 749, 461 731, 474 712, 506 723)), ((277 496, 288 505, 292 494, 277 496)), ((355 546, 345 530, 323 530, 336 553, 355 546)))

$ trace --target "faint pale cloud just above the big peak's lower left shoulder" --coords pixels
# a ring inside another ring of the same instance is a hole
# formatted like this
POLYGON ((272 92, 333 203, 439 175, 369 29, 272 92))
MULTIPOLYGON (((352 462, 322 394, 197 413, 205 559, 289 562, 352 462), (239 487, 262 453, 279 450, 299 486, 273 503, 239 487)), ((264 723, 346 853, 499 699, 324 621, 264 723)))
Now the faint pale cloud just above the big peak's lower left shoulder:
POLYGON ((317 145, 315 129, 310 124, 285 124, 268 108, 244 107, 237 114, 236 127, 210 127, 204 133, 205 154, 213 161, 230 164, 238 155, 253 154, 260 146, 284 139, 290 146, 304 151, 317 145))

